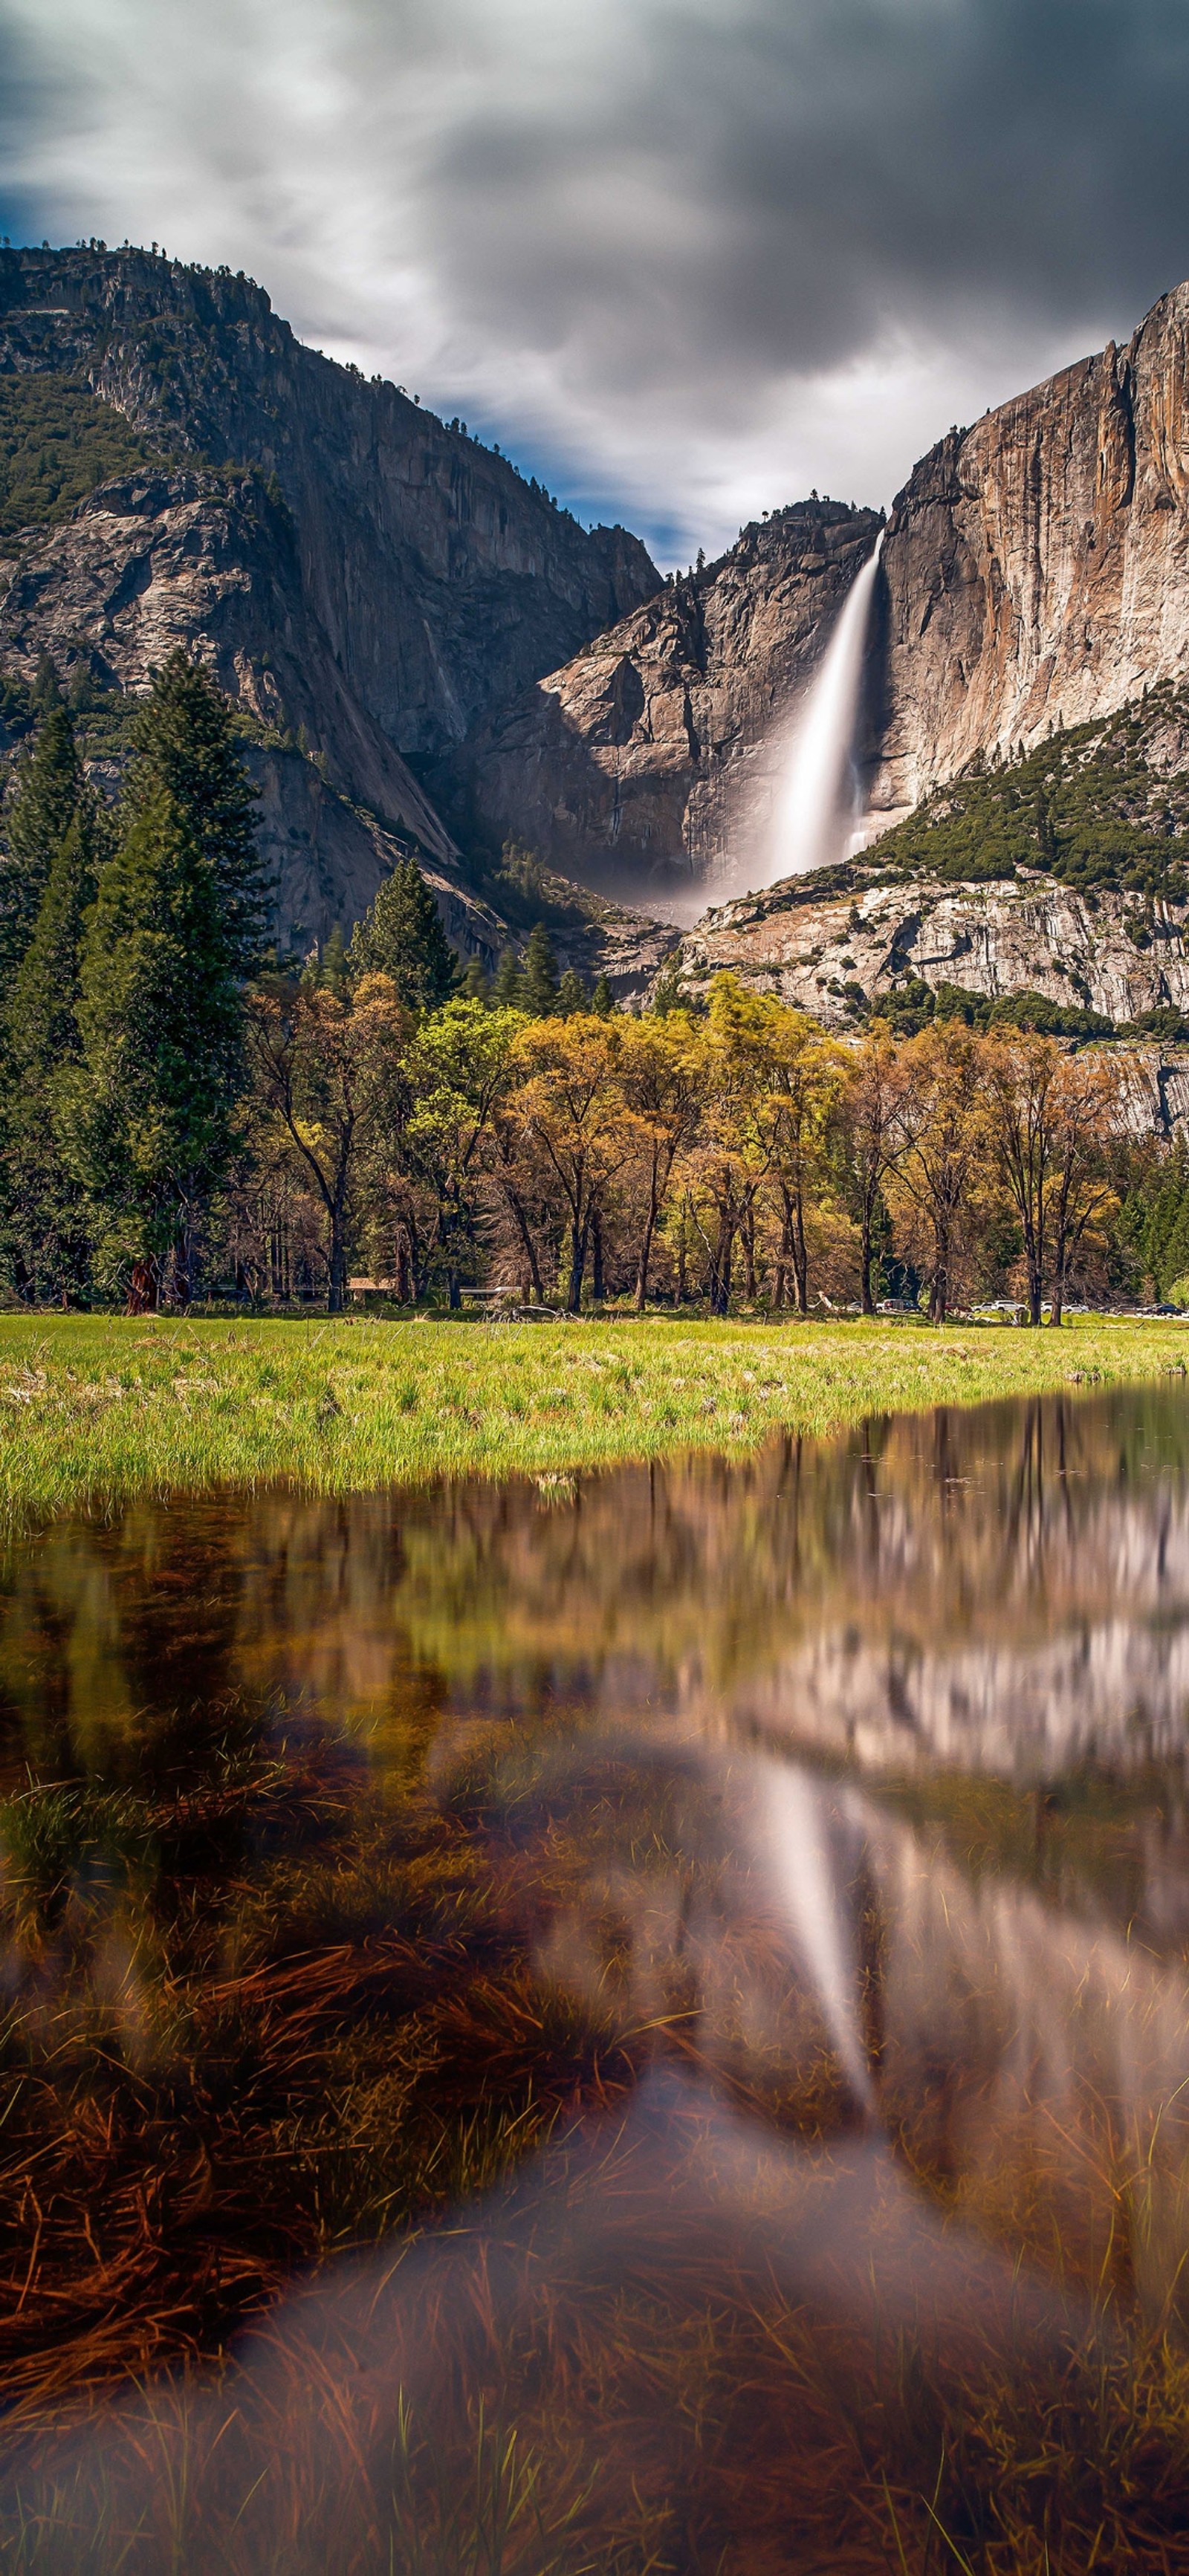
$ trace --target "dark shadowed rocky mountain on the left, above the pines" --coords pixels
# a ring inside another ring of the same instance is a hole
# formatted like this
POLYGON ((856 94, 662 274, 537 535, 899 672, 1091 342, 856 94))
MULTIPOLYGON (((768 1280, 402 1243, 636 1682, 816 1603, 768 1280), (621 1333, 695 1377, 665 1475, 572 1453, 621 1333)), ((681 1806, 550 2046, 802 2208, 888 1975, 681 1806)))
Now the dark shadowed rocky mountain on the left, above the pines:
POLYGON ((8 453, 28 384, 62 402, 44 438, 85 453, 85 394, 137 459, 101 464, 70 513, 34 477, 31 523, 0 541, 5 677, 49 652, 67 683, 121 693, 173 641, 199 647, 253 737, 281 927, 351 922, 415 848, 451 927, 490 945, 436 791, 495 706, 658 587, 640 541, 583 531, 462 422, 302 348, 224 270, 0 252, 8 453))

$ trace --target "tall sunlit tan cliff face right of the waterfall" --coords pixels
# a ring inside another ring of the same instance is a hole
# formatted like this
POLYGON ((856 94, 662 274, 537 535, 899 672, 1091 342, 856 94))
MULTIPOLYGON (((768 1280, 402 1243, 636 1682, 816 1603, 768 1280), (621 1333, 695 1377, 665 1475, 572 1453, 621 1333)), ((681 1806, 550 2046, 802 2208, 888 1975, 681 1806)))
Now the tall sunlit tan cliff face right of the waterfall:
POLYGON ((1127 348, 954 433, 900 492, 872 659, 872 801, 1032 747, 1189 652, 1189 286, 1127 348))

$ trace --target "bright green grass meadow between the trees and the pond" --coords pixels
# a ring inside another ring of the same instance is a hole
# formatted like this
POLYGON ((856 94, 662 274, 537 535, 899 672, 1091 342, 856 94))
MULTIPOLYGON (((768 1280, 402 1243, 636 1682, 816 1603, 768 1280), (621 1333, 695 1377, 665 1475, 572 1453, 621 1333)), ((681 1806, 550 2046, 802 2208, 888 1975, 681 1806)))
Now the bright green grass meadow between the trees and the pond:
POLYGON ((1179 1324, 0 1316, 0 1512, 297 1479, 565 1471, 1184 1373, 1179 1324))

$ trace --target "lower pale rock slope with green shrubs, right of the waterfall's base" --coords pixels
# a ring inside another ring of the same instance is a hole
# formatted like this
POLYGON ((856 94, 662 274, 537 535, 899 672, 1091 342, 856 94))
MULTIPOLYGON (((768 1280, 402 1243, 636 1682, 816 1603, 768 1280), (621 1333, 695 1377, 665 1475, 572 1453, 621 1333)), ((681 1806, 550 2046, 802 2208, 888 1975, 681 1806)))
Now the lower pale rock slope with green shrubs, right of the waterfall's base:
MULTIPOLYGON (((841 868, 707 912, 678 951, 854 1030, 1032 994, 1068 1036, 1189 1041, 1189 693, 978 762, 841 868)), ((1176 1059, 1179 1061, 1179 1059, 1176 1059)), ((1189 1087, 1176 1072, 1176 1118, 1189 1087)))

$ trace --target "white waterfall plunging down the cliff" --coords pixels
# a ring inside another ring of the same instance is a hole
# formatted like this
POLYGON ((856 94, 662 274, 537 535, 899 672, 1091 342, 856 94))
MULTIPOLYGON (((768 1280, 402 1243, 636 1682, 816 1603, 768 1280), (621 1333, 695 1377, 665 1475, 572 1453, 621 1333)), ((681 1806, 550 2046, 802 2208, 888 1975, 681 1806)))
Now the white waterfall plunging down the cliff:
POLYGON ((776 788, 761 886, 776 886, 781 876, 805 876, 807 868, 828 868, 830 860, 846 858, 856 829, 854 724, 879 549, 882 533, 849 590, 820 672, 797 714, 776 788))

